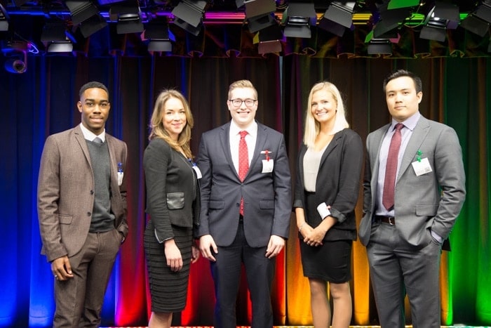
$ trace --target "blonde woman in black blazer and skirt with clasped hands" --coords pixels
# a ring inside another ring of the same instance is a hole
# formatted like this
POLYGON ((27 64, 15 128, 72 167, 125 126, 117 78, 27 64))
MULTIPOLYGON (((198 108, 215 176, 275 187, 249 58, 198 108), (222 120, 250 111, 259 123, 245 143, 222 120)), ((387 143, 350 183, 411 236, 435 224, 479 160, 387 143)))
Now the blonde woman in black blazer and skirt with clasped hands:
POLYGON ((297 163, 293 207, 304 276, 309 278, 314 327, 349 327, 351 247, 356 240, 363 143, 348 129, 334 84, 315 84, 309 94, 304 143, 297 163))

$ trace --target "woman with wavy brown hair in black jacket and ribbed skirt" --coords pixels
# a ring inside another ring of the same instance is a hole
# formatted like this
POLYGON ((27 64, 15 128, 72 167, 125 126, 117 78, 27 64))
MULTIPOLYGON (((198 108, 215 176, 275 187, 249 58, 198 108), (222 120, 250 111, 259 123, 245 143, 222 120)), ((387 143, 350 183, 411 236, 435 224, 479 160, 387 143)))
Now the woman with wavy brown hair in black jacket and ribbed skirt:
POLYGON ((199 224, 200 176, 189 140, 193 117, 184 96, 160 93, 151 119, 143 167, 149 221, 144 232, 152 315, 148 327, 170 327, 186 306, 189 265, 199 257, 193 227, 199 224))

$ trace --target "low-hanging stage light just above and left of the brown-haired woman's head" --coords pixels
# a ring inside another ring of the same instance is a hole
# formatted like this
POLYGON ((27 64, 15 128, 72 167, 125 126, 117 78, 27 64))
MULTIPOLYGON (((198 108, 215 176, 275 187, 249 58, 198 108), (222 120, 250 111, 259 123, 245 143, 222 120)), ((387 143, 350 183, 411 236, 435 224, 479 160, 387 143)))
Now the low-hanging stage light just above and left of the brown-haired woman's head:
POLYGON ((154 52, 172 52, 175 37, 170 32, 166 18, 156 18, 151 20, 143 34, 144 39, 148 40, 147 50, 154 52))

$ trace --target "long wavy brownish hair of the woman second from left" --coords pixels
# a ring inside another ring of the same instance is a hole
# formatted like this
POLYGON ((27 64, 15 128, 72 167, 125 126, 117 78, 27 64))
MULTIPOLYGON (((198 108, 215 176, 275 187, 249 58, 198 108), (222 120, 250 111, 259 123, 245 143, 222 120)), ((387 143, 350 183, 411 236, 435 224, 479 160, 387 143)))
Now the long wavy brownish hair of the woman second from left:
POLYGON ((150 135, 149 140, 153 138, 162 138, 166 140, 166 142, 177 152, 184 152, 184 155, 188 158, 193 158, 191 153, 191 147, 189 142, 191 140, 191 129, 194 126, 193 114, 191 113, 191 108, 189 107, 189 103, 187 103, 186 98, 182 96, 177 90, 166 89, 163 90, 157 99, 155 100, 154 112, 152 112, 152 118, 150 119, 150 135), (186 126, 182 129, 182 132, 179 134, 179 138, 173 140, 170 138, 169 133, 164 129, 162 122, 162 112, 166 105, 166 101, 170 98, 176 98, 182 101, 182 105, 184 106, 184 114, 186 115, 186 126))

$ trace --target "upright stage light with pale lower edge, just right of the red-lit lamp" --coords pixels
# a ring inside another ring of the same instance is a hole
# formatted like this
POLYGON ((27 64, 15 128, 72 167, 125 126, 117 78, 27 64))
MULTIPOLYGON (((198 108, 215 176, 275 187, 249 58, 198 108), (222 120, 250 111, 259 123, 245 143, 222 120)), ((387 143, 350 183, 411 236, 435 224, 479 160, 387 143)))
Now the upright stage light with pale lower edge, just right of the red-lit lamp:
POLYGON ((314 4, 289 3, 285 13, 283 13, 283 23, 285 37, 299 37, 310 39, 311 25, 316 25, 317 13, 314 4))

